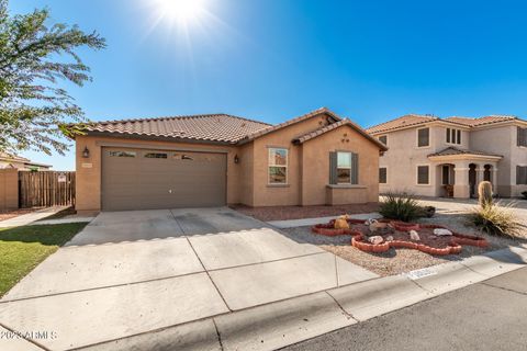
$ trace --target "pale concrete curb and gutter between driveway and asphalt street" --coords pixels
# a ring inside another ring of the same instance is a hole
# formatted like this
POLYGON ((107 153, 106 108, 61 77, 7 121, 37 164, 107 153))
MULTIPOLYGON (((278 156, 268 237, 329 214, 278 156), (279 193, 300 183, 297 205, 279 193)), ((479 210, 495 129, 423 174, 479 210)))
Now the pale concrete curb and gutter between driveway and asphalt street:
POLYGON ((526 264, 527 250, 511 247, 80 349, 276 350, 526 264))

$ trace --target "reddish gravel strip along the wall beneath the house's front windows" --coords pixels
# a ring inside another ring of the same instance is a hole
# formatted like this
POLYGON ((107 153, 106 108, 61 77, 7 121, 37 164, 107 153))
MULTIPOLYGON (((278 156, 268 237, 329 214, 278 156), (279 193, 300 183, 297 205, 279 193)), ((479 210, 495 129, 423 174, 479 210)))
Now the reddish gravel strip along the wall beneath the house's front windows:
POLYGON ((361 214, 379 211, 379 203, 341 205, 341 206, 271 206, 271 207, 248 207, 245 205, 233 205, 231 208, 242 212, 247 216, 260 220, 288 220, 302 218, 317 218, 339 216, 341 214, 361 214))

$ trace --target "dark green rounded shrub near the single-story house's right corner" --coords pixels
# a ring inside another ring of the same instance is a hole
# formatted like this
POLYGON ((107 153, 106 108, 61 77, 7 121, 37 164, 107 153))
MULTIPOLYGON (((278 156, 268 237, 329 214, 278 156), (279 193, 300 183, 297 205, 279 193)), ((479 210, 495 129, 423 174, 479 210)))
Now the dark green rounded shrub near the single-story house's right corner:
POLYGON ((379 213, 389 219, 411 222, 424 215, 417 200, 406 193, 388 193, 380 204, 379 213))

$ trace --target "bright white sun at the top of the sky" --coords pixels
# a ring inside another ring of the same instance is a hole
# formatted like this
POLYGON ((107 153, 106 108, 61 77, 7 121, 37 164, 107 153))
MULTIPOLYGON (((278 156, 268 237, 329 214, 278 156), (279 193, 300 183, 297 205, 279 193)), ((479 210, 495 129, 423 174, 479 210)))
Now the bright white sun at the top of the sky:
POLYGON ((155 0, 155 2, 158 15, 177 25, 197 21, 205 11, 204 0, 155 0))

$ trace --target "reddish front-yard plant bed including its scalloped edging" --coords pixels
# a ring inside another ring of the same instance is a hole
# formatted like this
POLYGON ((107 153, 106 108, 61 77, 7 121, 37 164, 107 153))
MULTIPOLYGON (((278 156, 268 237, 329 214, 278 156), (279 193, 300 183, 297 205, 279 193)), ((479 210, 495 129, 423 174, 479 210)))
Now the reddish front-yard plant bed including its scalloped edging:
POLYGON ((386 252, 390 248, 406 248, 419 250, 428 254, 447 256, 458 254, 462 250, 462 245, 486 248, 489 242, 485 238, 464 235, 452 231, 451 236, 437 236, 434 229, 448 229, 445 226, 434 224, 415 224, 390 222, 384 229, 372 233, 369 225, 360 219, 347 219, 349 229, 335 228, 335 220, 327 224, 318 224, 312 227, 312 230, 319 235, 337 236, 350 235, 351 245, 366 252, 386 252), (419 240, 412 240, 408 231, 415 230, 419 240), (369 236, 379 236, 381 242, 372 244, 368 240, 369 236))

